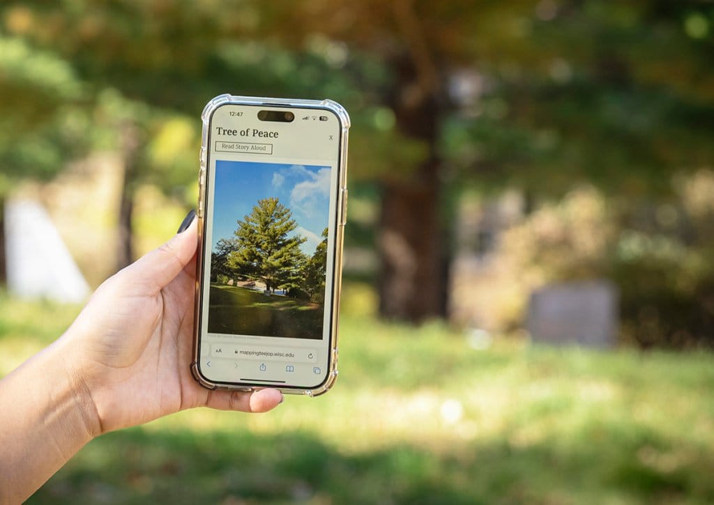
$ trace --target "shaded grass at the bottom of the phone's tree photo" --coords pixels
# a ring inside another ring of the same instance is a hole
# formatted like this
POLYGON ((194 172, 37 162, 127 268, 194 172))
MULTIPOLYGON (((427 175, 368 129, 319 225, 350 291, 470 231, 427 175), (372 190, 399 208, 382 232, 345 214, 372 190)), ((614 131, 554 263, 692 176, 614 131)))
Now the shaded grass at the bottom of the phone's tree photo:
POLYGON ((322 337, 323 310, 316 303, 213 283, 208 304, 211 333, 322 337))

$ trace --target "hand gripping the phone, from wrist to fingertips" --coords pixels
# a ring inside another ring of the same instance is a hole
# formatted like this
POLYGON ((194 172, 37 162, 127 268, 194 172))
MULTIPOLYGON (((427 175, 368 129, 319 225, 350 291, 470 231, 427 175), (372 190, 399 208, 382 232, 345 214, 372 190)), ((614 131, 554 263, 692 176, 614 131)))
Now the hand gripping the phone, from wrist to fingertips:
POLYGON ((189 218, 106 280, 61 337, 69 375, 94 409, 94 436, 192 407, 266 412, 282 402, 277 389, 211 391, 191 376, 197 220, 189 218))

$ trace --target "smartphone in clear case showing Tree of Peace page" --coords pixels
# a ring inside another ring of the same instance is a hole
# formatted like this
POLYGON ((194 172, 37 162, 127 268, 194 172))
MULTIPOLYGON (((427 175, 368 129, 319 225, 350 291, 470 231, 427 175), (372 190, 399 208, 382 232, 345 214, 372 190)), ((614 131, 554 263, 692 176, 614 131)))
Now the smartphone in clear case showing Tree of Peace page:
POLYGON ((216 96, 201 115, 193 377, 316 396, 337 377, 345 109, 216 96))

